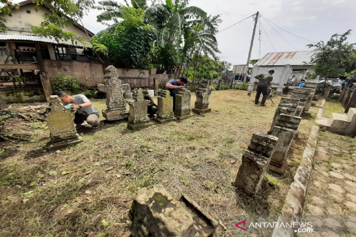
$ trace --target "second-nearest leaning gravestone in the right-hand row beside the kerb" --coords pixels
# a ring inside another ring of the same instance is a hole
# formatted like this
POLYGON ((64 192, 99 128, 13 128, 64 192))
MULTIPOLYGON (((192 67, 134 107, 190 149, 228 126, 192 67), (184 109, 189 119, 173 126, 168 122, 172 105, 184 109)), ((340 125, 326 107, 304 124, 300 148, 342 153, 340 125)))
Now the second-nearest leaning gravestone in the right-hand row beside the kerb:
POLYGON ((287 171, 287 153, 301 121, 301 117, 288 114, 279 115, 276 126, 271 131, 271 135, 278 138, 268 167, 272 171, 279 174, 284 174, 287 171))

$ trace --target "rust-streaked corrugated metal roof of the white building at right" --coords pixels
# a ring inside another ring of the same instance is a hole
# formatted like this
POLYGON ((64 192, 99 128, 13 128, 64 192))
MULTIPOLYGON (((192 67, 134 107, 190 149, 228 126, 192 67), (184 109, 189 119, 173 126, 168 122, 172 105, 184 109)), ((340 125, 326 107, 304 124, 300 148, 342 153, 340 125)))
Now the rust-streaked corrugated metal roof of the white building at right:
MULTIPOLYGON (((304 65, 304 62, 309 64, 310 58, 313 56, 313 51, 299 52, 284 52, 284 53, 268 53, 263 56, 255 65, 257 66, 291 66, 304 65)), ((310 64, 309 64, 310 65, 310 64)))

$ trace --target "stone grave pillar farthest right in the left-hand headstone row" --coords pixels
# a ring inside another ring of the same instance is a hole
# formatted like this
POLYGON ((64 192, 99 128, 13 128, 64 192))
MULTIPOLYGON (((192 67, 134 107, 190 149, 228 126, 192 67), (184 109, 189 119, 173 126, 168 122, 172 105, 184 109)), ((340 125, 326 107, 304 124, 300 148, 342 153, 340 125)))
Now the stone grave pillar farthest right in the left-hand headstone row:
POLYGON ((195 107, 192 109, 194 113, 205 114, 211 111, 209 106, 209 97, 211 91, 209 91, 210 81, 201 80, 198 90, 195 91, 197 100, 195 101, 195 107))

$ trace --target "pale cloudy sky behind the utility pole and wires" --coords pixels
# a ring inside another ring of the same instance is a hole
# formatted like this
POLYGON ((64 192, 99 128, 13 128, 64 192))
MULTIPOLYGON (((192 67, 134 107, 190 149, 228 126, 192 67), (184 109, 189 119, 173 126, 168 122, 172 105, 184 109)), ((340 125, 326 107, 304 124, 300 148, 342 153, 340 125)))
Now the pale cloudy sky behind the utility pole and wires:
MULTIPOLYGON (((124 3, 123 0, 117 1, 124 3)), ((259 11, 277 26, 309 41, 326 42, 335 33, 342 34, 354 29, 348 42, 356 42, 355 0, 190 0, 189 6, 200 7, 208 15, 221 15, 223 22, 219 25, 220 31, 259 11)), ((104 25, 96 22, 96 16, 99 14, 99 10, 91 10, 88 16, 83 18, 85 28, 93 33, 105 29, 104 25)), ((262 17, 260 22, 261 57, 273 52, 311 50, 306 46, 311 42, 292 36, 270 23, 273 29, 262 17)), ((221 51, 217 55, 220 60, 233 65, 246 64, 253 25, 251 17, 217 34, 221 51)), ((258 24, 251 59, 260 59, 259 28, 258 24)))

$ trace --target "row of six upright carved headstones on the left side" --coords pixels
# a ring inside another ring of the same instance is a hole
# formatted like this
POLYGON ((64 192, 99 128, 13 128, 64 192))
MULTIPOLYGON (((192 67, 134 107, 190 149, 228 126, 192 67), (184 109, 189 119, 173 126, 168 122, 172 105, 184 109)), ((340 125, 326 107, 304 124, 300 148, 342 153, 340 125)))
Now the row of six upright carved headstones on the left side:
MULTIPOLYGON (((158 96, 158 111, 155 121, 158 123, 171 122, 176 119, 182 120, 192 116, 192 111, 198 114, 210 112, 209 80, 202 80, 199 88, 195 91, 197 100, 195 107, 190 108, 190 93, 187 89, 179 89, 176 93, 175 110, 173 111, 173 97, 169 91, 163 90, 158 96)), ((152 126, 153 123, 147 117, 147 105, 150 101, 145 100, 142 91, 135 91, 131 99, 131 87, 122 84, 114 66, 105 69, 105 84, 98 84, 98 89, 106 93, 106 110, 103 116, 106 120, 115 121, 128 118, 127 128, 132 130, 143 129, 152 126), (126 109, 126 103, 130 110, 126 109)), ((51 142, 47 147, 56 150, 64 146, 83 141, 75 131, 73 115, 75 110, 63 107, 58 96, 49 99, 50 112, 47 116, 51 142), (62 121, 62 122, 61 122, 62 121), (66 128, 66 129, 64 129, 66 128), (52 136, 53 134, 53 136, 52 136), (55 135, 54 135, 55 134, 55 135), (54 139, 54 137, 56 137, 54 139)))

